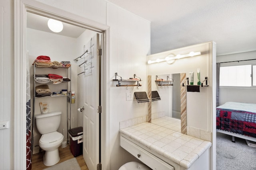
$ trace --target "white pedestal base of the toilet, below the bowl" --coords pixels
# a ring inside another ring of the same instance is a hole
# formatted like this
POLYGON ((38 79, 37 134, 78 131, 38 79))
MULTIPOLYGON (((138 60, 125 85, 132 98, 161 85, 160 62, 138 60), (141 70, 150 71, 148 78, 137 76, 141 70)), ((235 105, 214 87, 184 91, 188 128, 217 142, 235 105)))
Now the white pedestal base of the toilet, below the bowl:
POLYGON ((45 151, 44 154, 44 165, 52 166, 57 164, 60 161, 59 149, 45 151))

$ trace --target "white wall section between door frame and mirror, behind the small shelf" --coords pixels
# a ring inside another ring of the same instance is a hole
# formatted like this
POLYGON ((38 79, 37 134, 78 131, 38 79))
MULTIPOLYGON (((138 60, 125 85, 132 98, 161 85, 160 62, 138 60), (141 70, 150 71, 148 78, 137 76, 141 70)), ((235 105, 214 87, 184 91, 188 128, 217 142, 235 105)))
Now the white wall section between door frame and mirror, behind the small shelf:
MULTIPOLYGON (((147 92, 146 55, 150 50, 150 22, 121 8, 108 4, 107 25, 110 26, 110 77, 115 73, 124 79, 140 77, 142 86, 116 87, 110 80, 110 170, 133 160, 128 152, 120 147, 119 122, 147 115, 147 104, 126 101, 126 92, 147 92), (129 155, 129 156, 128 156, 129 155)), ((121 82, 121 84, 127 82, 121 82)))

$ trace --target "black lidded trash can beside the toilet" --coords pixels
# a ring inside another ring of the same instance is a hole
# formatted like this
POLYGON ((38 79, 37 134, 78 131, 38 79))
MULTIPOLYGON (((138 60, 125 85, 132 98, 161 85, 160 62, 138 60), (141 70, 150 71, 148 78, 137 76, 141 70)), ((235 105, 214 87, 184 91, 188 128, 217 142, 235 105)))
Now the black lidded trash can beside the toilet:
POLYGON ((70 150, 74 157, 83 154, 83 127, 75 127, 68 130, 70 150))

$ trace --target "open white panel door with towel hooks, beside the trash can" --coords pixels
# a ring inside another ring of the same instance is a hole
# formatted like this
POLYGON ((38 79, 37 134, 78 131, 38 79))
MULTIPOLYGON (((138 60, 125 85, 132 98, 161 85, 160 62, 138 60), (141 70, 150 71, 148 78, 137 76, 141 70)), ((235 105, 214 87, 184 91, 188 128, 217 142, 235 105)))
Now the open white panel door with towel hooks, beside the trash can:
POLYGON ((83 157, 89 170, 96 170, 99 163, 99 34, 92 37, 89 55, 84 64, 84 122, 83 157))

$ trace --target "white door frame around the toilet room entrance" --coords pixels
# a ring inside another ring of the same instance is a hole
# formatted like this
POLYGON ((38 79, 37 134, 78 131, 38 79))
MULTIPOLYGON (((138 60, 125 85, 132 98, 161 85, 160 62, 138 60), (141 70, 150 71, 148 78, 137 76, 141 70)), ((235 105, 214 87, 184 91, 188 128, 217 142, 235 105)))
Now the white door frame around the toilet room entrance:
POLYGON ((26 169, 26 12, 33 12, 102 33, 102 169, 109 170, 110 27, 35 0, 14 0, 14 169, 26 169))

